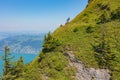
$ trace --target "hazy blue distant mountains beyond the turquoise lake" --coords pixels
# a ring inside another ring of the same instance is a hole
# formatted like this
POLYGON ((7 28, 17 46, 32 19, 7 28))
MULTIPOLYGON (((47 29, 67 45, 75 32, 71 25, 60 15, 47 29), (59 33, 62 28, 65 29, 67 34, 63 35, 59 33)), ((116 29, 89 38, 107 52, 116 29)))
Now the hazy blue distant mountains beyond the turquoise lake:
POLYGON ((37 54, 42 49, 44 33, 42 34, 9 34, 0 33, 0 50, 5 45, 10 47, 13 53, 37 54))

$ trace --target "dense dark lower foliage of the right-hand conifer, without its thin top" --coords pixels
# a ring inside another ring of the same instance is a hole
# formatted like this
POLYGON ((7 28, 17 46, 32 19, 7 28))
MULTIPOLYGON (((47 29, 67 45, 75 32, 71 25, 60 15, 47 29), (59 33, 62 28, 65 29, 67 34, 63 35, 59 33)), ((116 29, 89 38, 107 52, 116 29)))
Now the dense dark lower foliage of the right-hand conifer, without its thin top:
POLYGON ((106 44, 99 44, 94 47, 95 58, 98 61, 98 65, 100 68, 108 68, 111 69, 112 62, 115 60, 115 54, 110 51, 110 48, 106 44))

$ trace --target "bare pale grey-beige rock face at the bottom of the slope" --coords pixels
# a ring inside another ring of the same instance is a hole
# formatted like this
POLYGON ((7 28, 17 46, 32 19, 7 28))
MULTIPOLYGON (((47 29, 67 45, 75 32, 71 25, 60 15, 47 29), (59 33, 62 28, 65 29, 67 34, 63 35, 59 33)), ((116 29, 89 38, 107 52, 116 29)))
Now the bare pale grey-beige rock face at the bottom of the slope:
POLYGON ((77 80, 110 80, 108 69, 86 68, 81 61, 75 59, 72 51, 65 54, 69 59, 69 65, 77 69, 77 80))

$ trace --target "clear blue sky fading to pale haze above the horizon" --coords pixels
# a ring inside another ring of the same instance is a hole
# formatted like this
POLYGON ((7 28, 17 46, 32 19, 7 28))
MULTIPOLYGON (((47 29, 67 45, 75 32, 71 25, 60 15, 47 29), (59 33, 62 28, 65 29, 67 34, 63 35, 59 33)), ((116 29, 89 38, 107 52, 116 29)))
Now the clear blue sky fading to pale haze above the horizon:
POLYGON ((0 0, 0 32, 54 31, 75 18, 88 0, 0 0))

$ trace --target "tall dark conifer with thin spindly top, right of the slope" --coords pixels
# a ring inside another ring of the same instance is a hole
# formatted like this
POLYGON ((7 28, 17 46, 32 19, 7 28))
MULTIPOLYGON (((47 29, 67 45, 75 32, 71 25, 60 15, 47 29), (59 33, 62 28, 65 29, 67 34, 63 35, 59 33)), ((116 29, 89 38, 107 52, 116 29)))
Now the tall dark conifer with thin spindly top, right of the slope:
POLYGON ((115 54, 112 53, 109 43, 105 41, 105 27, 102 27, 102 38, 97 46, 93 46, 96 52, 95 58, 100 68, 111 68, 111 62, 115 60, 115 54))

